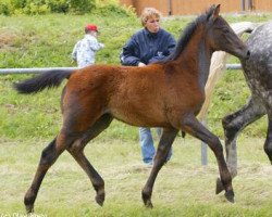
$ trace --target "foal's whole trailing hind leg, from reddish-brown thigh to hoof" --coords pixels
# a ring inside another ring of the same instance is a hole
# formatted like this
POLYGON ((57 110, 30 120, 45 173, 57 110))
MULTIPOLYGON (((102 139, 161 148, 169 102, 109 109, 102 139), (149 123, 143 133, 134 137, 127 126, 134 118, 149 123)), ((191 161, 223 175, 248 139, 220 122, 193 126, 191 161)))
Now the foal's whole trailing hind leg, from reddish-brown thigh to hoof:
POLYGON ((91 101, 92 98, 88 95, 86 98, 87 100, 81 101, 81 103, 75 100, 75 97, 66 100, 65 107, 63 106, 62 129, 57 139, 42 151, 33 183, 25 194, 25 206, 28 213, 33 212, 39 187, 49 167, 65 149, 82 138, 100 116, 100 104, 91 101), (92 105, 92 110, 87 110, 90 105, 92 105))

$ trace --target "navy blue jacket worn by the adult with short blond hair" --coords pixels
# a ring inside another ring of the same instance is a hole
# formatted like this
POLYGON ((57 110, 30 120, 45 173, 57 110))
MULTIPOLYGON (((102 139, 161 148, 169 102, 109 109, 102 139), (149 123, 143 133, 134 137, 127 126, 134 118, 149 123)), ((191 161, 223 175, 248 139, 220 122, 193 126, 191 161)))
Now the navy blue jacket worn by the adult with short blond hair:
POLYGON ((174 37, 160 28, 157 34, 146 28, 137 31, 124 46, 120 55, 122 65, 137 66, 139 62, 147 64, 163 60, 174 50, 174 37))

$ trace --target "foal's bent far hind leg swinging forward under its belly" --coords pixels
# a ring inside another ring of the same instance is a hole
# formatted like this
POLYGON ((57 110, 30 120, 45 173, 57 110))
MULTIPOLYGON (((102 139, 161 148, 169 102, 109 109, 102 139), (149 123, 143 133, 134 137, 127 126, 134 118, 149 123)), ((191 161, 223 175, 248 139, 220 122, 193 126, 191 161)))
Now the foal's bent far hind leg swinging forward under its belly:
POLYGON ((96 192, 96 202, 102 206, 104 201, 104 181, 96 169, 91 166, 89 161, 84 154, 84 148, 86 144, 97 137, 101 131, 109 127, 112 122, 112 116, 109 114, 102 115, 84 135, 81 139, 76 140, 67 151, 75 158, 75 161, 81 165, 81 167, 88 175, 96 192))

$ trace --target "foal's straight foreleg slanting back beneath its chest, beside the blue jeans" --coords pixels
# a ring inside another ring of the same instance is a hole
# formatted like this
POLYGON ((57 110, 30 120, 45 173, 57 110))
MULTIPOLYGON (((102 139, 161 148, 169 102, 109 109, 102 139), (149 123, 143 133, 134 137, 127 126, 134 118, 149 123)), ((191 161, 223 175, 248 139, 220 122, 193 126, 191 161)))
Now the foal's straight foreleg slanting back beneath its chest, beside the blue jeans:
POLYGON ((162 165, 165 163, 166 157, 168 157, 168 153, 172 146, 172 143, 177 135, 176 129, 168 129, 164 128, 162 136, 160 138, 160 142, 157 149, 157 153, 154 155, 154 159, 153 159, 153 167, 152 170, 150 173, 150 176, 141 191, 141 197, 143 201, 145 203, 145 205, 147 207, 152 207, 152 203, 151 203, 151 194, 152 194, 152 189, 153 189, 153 183, 156 180, 156 177, 158 175, 158 173, 160 171, 162 165))

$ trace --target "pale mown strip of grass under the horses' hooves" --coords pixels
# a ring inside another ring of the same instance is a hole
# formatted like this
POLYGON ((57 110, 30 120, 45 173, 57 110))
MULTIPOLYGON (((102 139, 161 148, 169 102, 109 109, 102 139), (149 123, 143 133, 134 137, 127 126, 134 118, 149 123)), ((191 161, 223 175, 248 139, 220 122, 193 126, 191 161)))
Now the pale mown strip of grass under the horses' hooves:
MULTIPOLYGON (((23 197, 29 187, 45 140, 1 140, 0 215, 24 214, 23 197)), ((209 151, 209 165, 200 165, 199 141, 177 138, 174 155, 153 189, 153 209, 144 207, 140 191, 150 168, 140 162, 137 141, 98 138, 86 155, 106 181, 106 203, 95 203, 86 174, 66 152, 48 171, 35 206, 48 216, 271 216, 272 167, 262 139, 242 139, 238 176, 233 181, 236 203, 215 195, 218 168, 209 151)))

